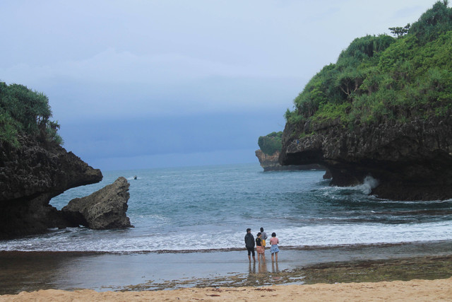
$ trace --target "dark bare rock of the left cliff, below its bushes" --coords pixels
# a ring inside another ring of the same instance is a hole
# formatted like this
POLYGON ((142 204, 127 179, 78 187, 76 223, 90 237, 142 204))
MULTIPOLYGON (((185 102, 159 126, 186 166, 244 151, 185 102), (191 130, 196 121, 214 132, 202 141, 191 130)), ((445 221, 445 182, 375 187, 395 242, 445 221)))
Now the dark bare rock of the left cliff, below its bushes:
POLYGON ((72 152, 34 137, 18 137, 14 149, 0 142, 0 238, 43 233, 66 222, 50 199, 102 180, 72 152))

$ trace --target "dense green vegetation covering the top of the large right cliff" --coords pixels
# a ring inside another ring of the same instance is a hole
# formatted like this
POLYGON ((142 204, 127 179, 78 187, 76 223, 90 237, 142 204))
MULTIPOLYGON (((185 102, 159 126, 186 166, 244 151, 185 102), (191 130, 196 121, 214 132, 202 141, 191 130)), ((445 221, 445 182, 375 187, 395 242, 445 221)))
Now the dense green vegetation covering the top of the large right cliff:
POLYGON ((452 8, 438 1, 419 21, 390 28, 397 37, 355 39, 324 66, 287 110, 291 124, 339 121, 343 127, 452 112, 452 8))

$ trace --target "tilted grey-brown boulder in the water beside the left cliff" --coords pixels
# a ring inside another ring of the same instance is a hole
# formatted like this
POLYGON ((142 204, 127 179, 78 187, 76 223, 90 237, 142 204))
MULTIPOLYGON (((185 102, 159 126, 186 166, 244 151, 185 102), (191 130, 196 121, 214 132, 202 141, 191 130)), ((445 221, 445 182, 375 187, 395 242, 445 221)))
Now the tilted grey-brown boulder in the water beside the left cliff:
POLYGON ((61 211, 73 226, 94 229, 131 227, 126 216, 129 186, 126 178, 120 177, 87 197, 72 199, 61 211))

